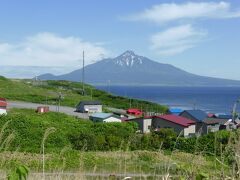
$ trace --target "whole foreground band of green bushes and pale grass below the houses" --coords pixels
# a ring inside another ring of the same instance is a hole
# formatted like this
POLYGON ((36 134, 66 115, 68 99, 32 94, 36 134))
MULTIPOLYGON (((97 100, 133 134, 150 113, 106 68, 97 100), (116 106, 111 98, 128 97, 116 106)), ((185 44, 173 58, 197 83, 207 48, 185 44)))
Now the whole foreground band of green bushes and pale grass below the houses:
POLYGON ((238 131, 188 139, 177 137, 171 129, 141 135, 136 134, 135 123, 94 124, 61 113, 37 114, 26 109, 12 109, 1 116, 0 127, 0 168, 9 174, 26 167, 36 172, 219 179, 235 177, 239 167, 238 131))

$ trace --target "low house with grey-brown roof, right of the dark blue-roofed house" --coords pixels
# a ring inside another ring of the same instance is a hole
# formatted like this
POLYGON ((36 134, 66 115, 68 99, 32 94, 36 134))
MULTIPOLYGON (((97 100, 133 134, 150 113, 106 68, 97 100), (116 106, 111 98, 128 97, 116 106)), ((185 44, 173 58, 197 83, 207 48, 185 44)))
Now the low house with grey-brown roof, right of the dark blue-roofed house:
POLYGON ((230 130, 232 127, 231 120, 220 118, 206 118, 204 121, 202 132, 207 134, 209 132, 216 132, 219 130, 230 130))

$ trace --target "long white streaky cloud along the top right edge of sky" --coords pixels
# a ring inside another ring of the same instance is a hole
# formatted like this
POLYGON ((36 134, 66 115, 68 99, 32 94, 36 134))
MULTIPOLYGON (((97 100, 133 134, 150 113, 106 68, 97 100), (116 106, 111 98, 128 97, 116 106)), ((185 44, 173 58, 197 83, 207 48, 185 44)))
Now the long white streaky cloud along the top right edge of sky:
POLYGON ((233 11, 228 2, 187 2, 183 4, 164 3, 155 5, 143 12, 133 14, 124 19, 133 21, 150 21, 166 23, 176 20, 196 18, 237 18, 240 10, 233 11))

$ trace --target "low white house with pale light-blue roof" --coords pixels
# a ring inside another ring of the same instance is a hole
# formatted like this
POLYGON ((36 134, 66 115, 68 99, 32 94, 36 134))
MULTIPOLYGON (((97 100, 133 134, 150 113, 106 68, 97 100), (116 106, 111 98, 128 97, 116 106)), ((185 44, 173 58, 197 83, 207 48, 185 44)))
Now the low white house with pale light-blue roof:
POLYGON ((112 113, 93 113, 89 116, 89 119, 93 122, 122 122, 120 117, 112 113))

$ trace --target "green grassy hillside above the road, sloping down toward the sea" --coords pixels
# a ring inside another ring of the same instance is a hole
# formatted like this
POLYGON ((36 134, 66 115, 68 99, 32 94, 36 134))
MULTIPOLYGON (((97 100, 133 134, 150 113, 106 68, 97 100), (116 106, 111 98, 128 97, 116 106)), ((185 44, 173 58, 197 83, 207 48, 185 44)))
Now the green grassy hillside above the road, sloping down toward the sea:
MULTIPOLYGON (((86 95, 81 95, 82 84, 69 81, 43 81, 10 80, 0 77, 0 97, 9 100, 28 101, 36 103, 55 104, 58 93, 61 92, 64 99, 62 105, 75 107, 80 100, 100 100, 105 106, 115 108, 129 108, 129 99, 110 95, 104 91, 85 85, 86 95)), ((165 112, 167 108, 156 103, 141 100, 132 100, 132 107, 142 108, 148 111, 165 112)))

